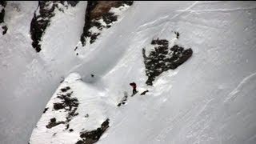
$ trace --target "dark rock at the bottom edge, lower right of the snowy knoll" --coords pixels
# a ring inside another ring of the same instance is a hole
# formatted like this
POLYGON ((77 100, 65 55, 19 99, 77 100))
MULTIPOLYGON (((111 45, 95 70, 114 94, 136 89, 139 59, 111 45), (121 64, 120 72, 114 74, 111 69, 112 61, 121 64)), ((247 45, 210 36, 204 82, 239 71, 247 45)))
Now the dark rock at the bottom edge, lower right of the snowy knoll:
POLYGON ((96 130, 81 132, 80 138, 82 138, 82 140, 79 140, 76 144, 93 144, 98 142, 98 139, 101 138, 102 134, 109 127, 109 124, 109 118, 107 118, 106 121, 102 123, 102 126, 98 127, 96 130))

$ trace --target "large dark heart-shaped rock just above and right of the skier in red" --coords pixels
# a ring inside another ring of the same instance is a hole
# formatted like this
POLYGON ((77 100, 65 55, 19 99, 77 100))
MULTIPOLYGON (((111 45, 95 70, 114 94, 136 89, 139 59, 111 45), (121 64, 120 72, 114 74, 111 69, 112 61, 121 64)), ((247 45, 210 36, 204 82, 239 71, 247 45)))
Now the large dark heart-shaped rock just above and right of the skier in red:
POLYGON ((151 45, 154 45, 154 50, 150 51, 148 56, 145 54, 145 48, 142 49, 146 76, 148 77, 146 84, 149 86, 153 85, 154 79, 162 72, 176 69, 183 62, 186 62, 193 53, 191 49, 185 50, 178 45, 169 48, 169 42, 166 39, 154 39, 151 45))

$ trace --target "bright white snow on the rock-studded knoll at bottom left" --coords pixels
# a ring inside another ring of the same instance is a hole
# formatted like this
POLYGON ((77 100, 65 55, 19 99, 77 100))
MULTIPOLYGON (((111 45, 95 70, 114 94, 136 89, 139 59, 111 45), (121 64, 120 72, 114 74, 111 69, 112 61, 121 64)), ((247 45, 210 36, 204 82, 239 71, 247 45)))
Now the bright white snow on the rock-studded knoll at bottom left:
POLYGON ((78 139, 81 139, 79 137, 80 131, 97 129, 106 119, 104 96, 101 95, 103 92, 102 90, 95 90, 93 86, 82 82, 79 74, 70 74, 46 105, 49 109, 42 115, 37 128, 34 129, 30 143, 75 143, 78 139), (54 102, 60 102, 57 98, 59 91, 66 86, 70 86, 71 89, 68 91, 74 92, 71 97, 78 98, 79 102, 78 116, 75 116, 69 122, 69 129, 74 130, 72 133, 66 130, 64 124, 54 126, 51 129, 46 128, 50 118, 56 118, 57 121, 66 121, 66 110, 53 109, 54 102), (89 114, 88 118, 85 118, 86 114, 89 114), (42 141, 38 141, 38 139, 42 139, 42 141))

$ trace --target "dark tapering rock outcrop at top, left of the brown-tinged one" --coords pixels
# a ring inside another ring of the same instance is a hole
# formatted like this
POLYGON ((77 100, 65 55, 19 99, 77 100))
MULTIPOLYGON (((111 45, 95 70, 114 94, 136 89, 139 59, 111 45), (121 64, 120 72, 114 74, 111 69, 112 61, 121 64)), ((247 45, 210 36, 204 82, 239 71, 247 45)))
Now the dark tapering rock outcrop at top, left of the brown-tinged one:
POLYGON ((41 51, 41 38, 47 26, 50 26, 50 18, 54 17, 54 10, 64 11, 64 7, 76 6, 79 1, 39 1, 38 8, 34 11, 34 17, 30 23, 30 34, 33 40, 32 46, 37 52, 41 51), (61 4, 62 6, 59 7, 61 4))

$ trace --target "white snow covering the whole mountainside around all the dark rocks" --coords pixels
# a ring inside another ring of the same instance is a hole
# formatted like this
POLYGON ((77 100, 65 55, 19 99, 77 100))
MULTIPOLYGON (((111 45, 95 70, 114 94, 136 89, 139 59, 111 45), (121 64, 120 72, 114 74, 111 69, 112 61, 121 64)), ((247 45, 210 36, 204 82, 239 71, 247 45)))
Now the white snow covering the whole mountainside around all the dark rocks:
POLYGON ((86 2, 56 12, 39 53, 30 38, 37 6, 5 7, 1 144, 73 144, 82 139, 80 132, 97 129, 106 118, 109 127, 97 144, 256 143, 256 2, 134 2, 79 55, 74 48, 86 2), (153 38, 193 54, 147 86, 142 48, 148 53, 153 38), (138 86, 134 97, 130 82, 138 86), (46 128, 50 118, 66 121, 66 110, 53 110, 65 86, 79 102, 78 115, 68 122, 72 132, 64 124, 46 128), (144 90, 149 92, 140 95, 144 90), (126 104, 117 106, 125 93, 126 104))

